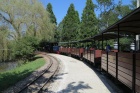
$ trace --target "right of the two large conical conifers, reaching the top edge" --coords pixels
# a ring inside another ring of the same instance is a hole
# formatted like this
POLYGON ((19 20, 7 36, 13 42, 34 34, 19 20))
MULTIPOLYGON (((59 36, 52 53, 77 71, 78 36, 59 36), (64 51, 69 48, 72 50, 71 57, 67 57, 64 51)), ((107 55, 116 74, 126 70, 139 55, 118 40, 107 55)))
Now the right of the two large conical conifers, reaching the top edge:
POLYGON ((82 13, 82 20, 80 25, 80 39, 85 39, 94 36, 97 31, 97 18, 94 13, 95 5, 92 0, 87 0, 86 6, 82 13))

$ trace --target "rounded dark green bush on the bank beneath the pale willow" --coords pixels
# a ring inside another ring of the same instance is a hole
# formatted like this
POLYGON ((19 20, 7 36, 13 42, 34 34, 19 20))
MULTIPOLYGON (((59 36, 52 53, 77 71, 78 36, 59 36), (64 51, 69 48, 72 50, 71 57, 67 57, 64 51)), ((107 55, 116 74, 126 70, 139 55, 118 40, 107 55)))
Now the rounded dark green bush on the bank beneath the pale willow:
POLYGON ((23 59, 25 61, 34 57, 34 51, 37 48, 39 41, 35 37, 23 37, 15 42, 13 47, 13 56, 16 59, 23 59))

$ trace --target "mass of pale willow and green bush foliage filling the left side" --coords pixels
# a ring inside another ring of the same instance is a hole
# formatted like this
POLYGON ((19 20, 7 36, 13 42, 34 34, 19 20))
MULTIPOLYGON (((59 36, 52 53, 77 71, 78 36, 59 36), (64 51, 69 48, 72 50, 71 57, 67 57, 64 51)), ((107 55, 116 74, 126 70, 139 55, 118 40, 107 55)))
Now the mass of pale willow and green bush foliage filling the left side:
POLYGON ((38 0, 0 0, 0 4, 0 61, 30 59, 39 41, 53 40, 56 25, 38 0))

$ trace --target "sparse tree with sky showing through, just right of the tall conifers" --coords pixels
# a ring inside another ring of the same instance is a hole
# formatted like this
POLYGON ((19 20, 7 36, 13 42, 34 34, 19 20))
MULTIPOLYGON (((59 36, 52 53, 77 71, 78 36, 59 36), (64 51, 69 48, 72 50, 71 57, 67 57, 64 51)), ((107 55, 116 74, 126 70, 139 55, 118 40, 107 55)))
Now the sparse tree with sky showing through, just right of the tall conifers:
POLYGON ((113 24, 118 20, 118 15, 116 15, 114 8, 115 3, 114 0, 97 0, 98 9, 100 10, 99 14, 99 27, 102 31, 106 29, 108 26, 113 24))

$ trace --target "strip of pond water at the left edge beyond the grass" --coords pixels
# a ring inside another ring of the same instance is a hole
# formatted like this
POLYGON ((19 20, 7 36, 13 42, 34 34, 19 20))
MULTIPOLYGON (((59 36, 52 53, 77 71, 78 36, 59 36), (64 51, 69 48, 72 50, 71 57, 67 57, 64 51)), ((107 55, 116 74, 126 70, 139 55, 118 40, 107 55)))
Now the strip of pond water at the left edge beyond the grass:
POLYGON ((0 73, 16 68, 19 65, 18 62, 3 62, 0 63, 0 73))

